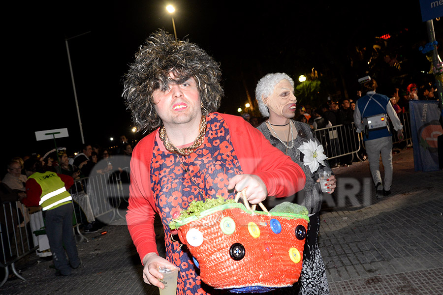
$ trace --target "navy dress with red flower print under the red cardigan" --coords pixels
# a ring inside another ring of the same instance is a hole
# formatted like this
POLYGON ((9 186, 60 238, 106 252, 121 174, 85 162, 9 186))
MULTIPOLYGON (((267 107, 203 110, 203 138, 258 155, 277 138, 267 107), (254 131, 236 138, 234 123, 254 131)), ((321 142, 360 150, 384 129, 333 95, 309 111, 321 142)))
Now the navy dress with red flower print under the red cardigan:
POLYGON ((165 232, 166 259, 180 267, 177 294, 220 294, 201 282, 198 268, 178 237, 167 226, 194 200, 220 196, 233 199, 226 189, 228 179, 242 170, 230 142, 229 129, 220 115, 207 117, 204 144, 188 156, 162 151, 156 141, 151 163, 151 185, 165 232), (180 162, 183 162, 183 164, 180 162), (198 187, 197 187, 198 186, 198 187), (208 293, 209 292, 209 293, 208 293))

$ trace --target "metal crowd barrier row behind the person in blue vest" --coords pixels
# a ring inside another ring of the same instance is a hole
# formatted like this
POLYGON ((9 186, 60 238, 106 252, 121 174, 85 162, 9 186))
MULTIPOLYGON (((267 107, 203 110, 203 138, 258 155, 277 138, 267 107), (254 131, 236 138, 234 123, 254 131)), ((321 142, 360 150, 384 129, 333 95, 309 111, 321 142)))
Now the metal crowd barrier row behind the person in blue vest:
MULTIPOLYGON (((409 112, 400 113, 397 115, 403 124, 403 141, 406 146, 412 146, 412 133, 411 133, 411 121, 409 112)), ((398 144, 400 140, 397 136, 397 132, 393 132, 394 127, 390 123, 390 130, 392 133, 392 143, 398 144)), ((360 161, 362 154, 360 150, 364 149, 363 134, 356 133, 355 124, 348 125, 335 125, 332 127, 316 129, 315 136, 317 140, 322 144, 325 155, 328 159, 334 159, 346 155, 352 155, 357 157, 360 161)))

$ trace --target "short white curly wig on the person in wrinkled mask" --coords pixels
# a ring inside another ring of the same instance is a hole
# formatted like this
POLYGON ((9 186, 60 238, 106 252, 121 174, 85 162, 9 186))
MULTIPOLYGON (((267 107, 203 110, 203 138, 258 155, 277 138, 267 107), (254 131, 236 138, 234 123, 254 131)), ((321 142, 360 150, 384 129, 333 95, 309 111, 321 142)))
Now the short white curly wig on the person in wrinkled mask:
POLYGON ((261 116, 269 117, 268 107, 264 104, 262 97, 268 97, 280 81, 286 79, 294 87, 294 81, 285 73, 271 73, 261 78, 255 87, 255 100, 258 104, 261 116))

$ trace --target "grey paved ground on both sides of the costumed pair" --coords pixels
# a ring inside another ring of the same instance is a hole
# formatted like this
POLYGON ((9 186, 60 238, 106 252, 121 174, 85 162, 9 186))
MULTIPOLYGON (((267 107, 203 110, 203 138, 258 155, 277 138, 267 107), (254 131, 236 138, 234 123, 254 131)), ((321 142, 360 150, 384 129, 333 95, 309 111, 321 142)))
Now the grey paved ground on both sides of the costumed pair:
MULTIPOLYGON (((414 172, 412 149, 393 157, 391 195, 380 201, 368 161, 334 169, 339 187, 325 200, 319 236, 332 295, 443 294, 443 171, 414 172)), ((71 276, 31 255, 38 263, 21 271, 27 281, 9 279, 0 293, 157 295, 143 283, 125 221, 103 231, 78 242, 82 265, 71 276)))

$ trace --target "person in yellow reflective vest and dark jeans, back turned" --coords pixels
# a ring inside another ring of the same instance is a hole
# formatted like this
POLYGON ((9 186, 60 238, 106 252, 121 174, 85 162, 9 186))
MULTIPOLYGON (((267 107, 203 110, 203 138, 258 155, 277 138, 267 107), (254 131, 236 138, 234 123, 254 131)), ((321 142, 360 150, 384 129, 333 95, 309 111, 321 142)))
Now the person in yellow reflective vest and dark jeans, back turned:
POLYGON ((35 172, 26 181, 27 196, 22 203, 27 207, 42 207, 56 275, 70 275, 72 268, 80 266, 72 231, 72 197, 68 191, 74 184, 74 179, 45 171, 38 160, 29 159, 24 165, 26 170, 35 172), (65 250, 69 261, 66 259, 65 250))

